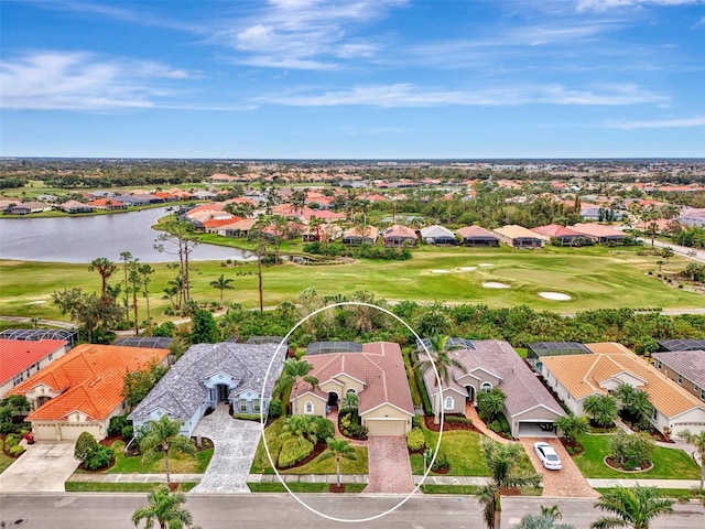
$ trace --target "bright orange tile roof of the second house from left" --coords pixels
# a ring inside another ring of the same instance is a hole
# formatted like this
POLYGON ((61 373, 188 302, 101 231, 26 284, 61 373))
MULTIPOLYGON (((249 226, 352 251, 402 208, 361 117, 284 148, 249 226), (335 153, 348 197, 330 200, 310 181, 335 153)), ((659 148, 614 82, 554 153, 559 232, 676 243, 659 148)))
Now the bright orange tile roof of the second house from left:
POLYGON ((62 395, 32 412, 28 421, 61 420, 79 410, 104 420, 122 402, 122 378, 128 371, 161 361, 169 349, 82 344, 18 385, 11 393, 24 395, 45 385, 62 395))

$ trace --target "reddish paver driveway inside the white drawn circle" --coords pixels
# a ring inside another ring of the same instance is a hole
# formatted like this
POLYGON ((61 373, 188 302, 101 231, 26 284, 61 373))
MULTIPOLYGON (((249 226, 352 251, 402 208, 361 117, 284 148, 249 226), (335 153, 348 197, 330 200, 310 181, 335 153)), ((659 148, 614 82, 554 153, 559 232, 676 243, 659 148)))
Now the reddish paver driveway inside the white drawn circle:
POLYGON ((369 466, 365 493, 409 494, 414 489, 409 449, 404 435, 370 435, 369 466))

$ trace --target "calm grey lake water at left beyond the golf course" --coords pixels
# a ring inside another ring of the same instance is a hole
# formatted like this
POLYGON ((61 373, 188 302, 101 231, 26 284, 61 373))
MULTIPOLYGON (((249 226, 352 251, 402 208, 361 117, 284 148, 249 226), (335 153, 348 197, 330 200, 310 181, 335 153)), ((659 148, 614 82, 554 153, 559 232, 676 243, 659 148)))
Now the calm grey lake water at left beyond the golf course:
MULTIPOLYGON (((162 233, 152 229, 166 208, 88 217, 0 218, 0 259, 46 262, 90 262, 98 257, 119 261, 129 251, 142 262, 173 262, 178 258, 154 249, 162 233)), ((164 244, 167 251, 175 245, 164 244)), ((198 245, 191 259, 245 260, 250 252, 237 248, 198 245)))

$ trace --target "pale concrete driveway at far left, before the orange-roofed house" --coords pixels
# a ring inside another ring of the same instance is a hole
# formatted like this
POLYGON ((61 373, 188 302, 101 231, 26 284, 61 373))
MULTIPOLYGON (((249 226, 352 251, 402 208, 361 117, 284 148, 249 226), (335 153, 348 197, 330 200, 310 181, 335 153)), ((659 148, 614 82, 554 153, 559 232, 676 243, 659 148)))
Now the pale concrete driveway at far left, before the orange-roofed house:
POLYGON ((40 441, 0 474, 0 493, 63 493, 74 473, 74 442, 40 441))

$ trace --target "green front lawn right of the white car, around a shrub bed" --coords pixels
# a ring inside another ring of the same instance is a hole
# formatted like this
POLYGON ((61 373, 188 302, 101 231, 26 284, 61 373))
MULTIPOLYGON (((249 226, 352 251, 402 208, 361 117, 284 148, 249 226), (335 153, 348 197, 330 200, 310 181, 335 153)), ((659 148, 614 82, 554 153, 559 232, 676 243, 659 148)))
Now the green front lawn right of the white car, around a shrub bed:
POLYGON ((653 468, 647 472, 619 472, 603 461, 609 452, 609 435, 582 435, 579 443, 585 452, 573 461, 585 477, 621 479, 699 479, 701 468, 682 450, 657 446, 652 457, 653 468))

